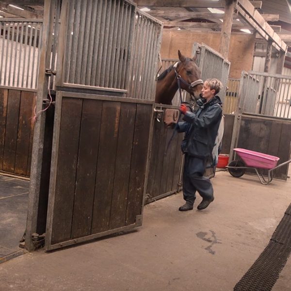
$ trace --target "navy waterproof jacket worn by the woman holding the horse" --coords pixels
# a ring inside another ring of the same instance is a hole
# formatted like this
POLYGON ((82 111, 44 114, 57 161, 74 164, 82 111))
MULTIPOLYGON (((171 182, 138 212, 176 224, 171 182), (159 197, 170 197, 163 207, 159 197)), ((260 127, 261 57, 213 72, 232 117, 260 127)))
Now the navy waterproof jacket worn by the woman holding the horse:
POLYGON ((198 100, 199 108, 195 113, 187 111, 184 122, 178 122, 178 132, 186 132, 181 148, 196 158, 210 156, 222 117, 220 97, 215 96, 209 102, 198 100))

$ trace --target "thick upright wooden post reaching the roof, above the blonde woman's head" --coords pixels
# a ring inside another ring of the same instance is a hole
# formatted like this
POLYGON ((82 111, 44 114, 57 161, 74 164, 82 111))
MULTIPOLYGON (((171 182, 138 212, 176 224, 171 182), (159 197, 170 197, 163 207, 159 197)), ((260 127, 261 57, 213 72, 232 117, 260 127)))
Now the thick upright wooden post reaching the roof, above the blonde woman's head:
POLYGON ((220 46, 219 46, 219 52, 222 54, 222 56, 225 59, 227 59, 228 57, 228 49, 229 49, 229 43, 230 43, 234 7, 235 7, 234 0, 226 0, 225 14, 223 18, 223 24, 222 24, 221 36, 220 36, 220 46))

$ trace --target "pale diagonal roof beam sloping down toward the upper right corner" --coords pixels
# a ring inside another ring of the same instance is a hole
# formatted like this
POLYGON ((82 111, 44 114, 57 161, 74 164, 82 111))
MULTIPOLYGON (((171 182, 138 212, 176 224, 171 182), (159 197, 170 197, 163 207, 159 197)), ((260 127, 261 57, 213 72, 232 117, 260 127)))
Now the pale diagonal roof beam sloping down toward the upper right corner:
POLYGON ((287 50, 287 45, 282 41, 277 33, 265 21, 263 16, 254 9, 254 6, 248 0, 237 0, 237 11, 254 29, 256 29, 261 36, 266 40, 272 39, 276 49, 287 50))

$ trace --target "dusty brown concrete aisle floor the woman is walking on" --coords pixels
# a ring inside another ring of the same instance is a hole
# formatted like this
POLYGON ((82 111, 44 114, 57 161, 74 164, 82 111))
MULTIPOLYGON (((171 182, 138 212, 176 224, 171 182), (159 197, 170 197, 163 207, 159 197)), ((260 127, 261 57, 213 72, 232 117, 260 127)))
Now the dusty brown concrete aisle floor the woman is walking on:
MULTIPOLYGON (((156 201, 136 231, 0 264, 0 290, 233 290, 290 205, 291 181, 264 186, 255 176, 222 171, 211 180, 208 209, 179 212, 181 193, 156 201)), ((272 290, 290 291, 290 274, 291 258, 272 290)))

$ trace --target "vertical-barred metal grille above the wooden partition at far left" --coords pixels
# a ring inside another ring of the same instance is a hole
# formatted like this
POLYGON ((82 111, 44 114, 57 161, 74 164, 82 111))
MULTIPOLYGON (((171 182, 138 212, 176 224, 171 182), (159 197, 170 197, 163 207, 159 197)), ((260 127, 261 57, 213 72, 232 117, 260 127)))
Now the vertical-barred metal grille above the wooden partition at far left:
POLYGON ((37 88, 42 20, 0 20, 0 85, 37 88))

